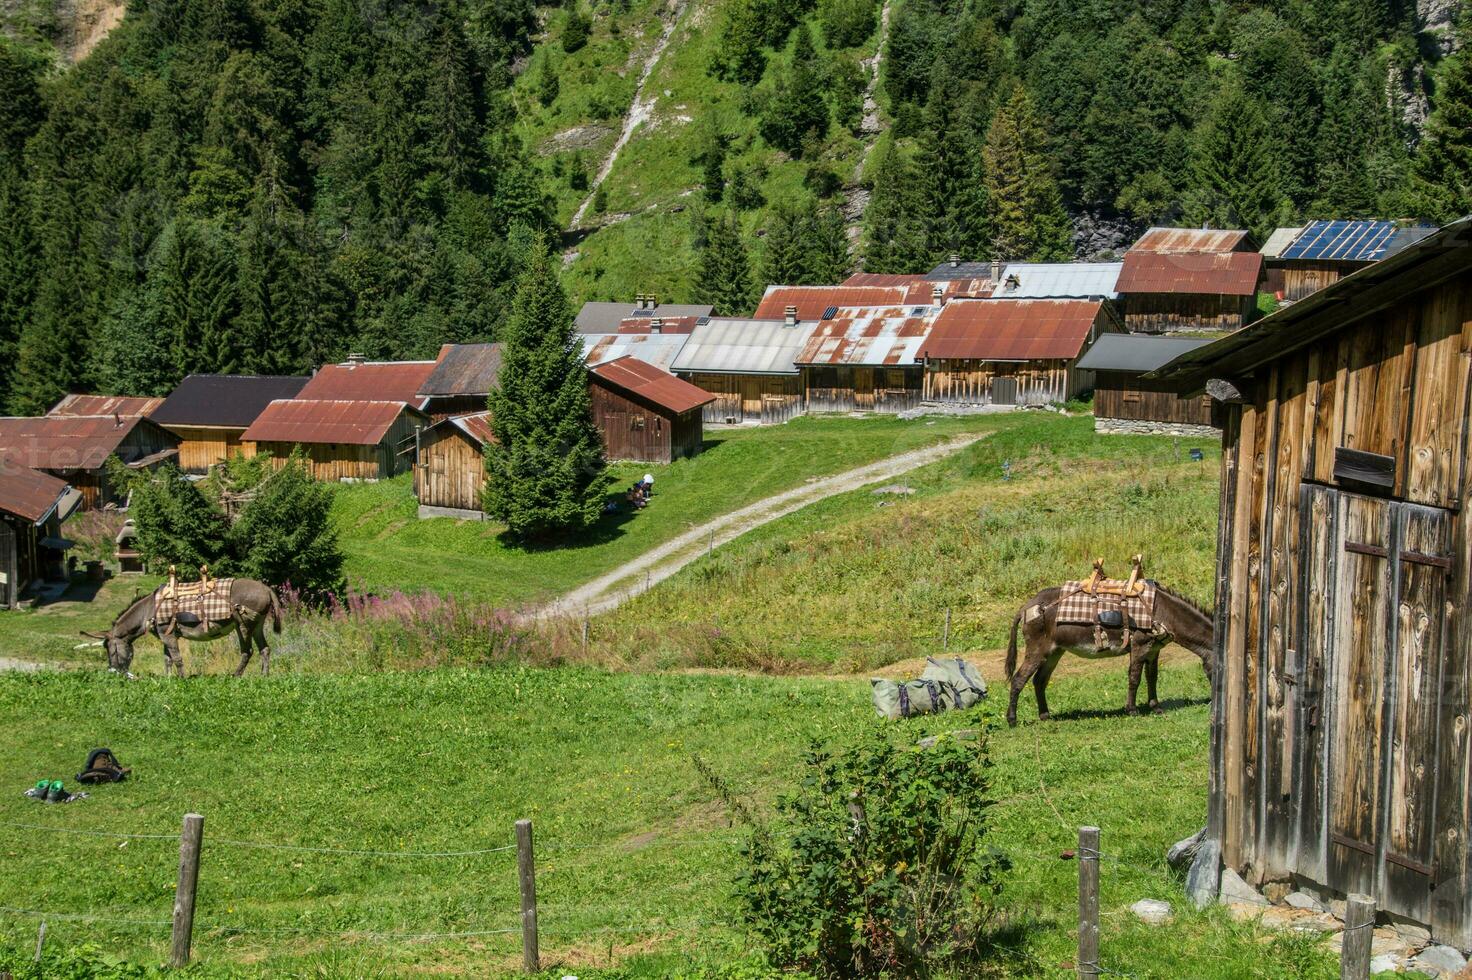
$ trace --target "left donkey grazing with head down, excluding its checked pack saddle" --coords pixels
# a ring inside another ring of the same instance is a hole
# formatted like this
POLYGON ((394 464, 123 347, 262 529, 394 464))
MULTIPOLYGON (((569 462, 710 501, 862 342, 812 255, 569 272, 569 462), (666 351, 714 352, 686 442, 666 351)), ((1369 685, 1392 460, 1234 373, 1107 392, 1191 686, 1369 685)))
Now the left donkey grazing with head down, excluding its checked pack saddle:
POLYGON ((163 643, 163 674, 172 670, 184 677, 184 656, 180 653, 180 637, 185 640, 213 640, 234 631, 240 640, 240 667, 236 677, 246 672, 253 649, 261 650, 261 672, 271 672, 271 647, 266 645, 266 618, 275 633, 281 631, 281 603, 275 592, 255 578, 234 578, 230 583, 230 619, 185 622, 183 618, 171 622, 158 622, 155 611, 158 608, 159 592, 163 587, 135 599, 132 605, 113 619, 106 633, 90 633, 82 630, 82 636, 102 640, 107 647, 107 667, 127 674, 132 665, 132 645, 138 639, 152 633, 163 643))

